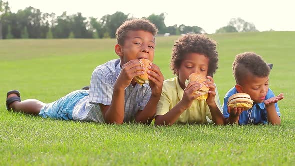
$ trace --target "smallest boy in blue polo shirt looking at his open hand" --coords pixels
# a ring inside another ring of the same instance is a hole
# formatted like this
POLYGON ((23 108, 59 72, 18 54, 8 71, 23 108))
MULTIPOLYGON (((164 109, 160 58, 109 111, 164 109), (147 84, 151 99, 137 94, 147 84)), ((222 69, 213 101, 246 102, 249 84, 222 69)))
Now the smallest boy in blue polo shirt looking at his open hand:
POLYGON ((223 115, 227 124, 280 124, 277 105, 283 93, 274 96, 268 88, 270 65, 254 52, 238 54, 232 64, 236 85, 224 97, 223 115), (228 98, 235 93, 247 93, 254 101, 249 110, 227 107, 228 98))

